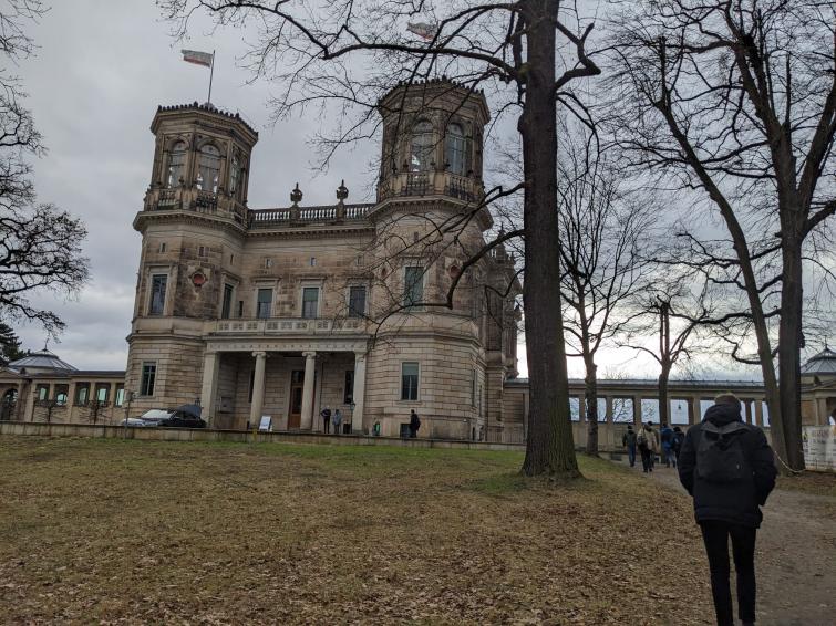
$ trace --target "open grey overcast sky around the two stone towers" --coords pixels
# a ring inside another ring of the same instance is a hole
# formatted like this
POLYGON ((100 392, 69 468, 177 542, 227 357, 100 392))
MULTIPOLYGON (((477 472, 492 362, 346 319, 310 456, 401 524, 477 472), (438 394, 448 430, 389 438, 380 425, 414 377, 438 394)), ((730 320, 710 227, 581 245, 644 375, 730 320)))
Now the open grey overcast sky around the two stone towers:
MULTIPOLYGON (((127 356, 140 233, 131 222, 142 207, 154 150, 148 129, 157 105, 205 102, 209 72, 182 61, 180 48, 216 50, 213 102, 239 111, 259 132, 249 186, 249 205, 289 205, 299 181, 303 204, 330 204, 342 178, 349 201, 368 200, 370 167, 379 147, 369 142, 339 152, 327 173, 313 168, 309 144, 319 118, 268 122, 271 88, 237 66, 246 51, 241 31, 209 33, 208 22, 193 22, 192 40, 182 44, 168 34, 153 0, 62 0, 29 31, 40 46, 19 70, 30 94, 29 106, 44 135, 49 154, 35 164, 39 199, 81 217, 90 231, 84 246, 92 280, 78 302, 49 295, 33 301, 53 309, 66 322, 61 343, 51 349, 80 368, 122 369, 127 356)), ((18 327, 27 348, 43 346, 38 326, 18 327)), ((522 335, 520 335, 522 341, 522 335)), ((520 371, 526 373, 520 346, 520 371)), ((570 374, 582 364, 570 359, 570 374)), ((631 351, 600 354, 599 373, 631 377, 656 375, 631 351)), ((726 375, 751 373, 730 369, 726 375)))

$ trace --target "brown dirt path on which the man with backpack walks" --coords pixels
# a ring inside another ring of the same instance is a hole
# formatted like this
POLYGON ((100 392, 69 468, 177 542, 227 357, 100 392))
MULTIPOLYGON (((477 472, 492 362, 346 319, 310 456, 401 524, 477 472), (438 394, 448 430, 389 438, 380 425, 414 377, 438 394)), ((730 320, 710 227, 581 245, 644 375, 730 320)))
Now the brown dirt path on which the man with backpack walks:
MULTIPOLYGON (((657 467, 650 476, 688 497, 675 470, 657 467)), ((778 488, 763 513, 756 557, 758 626, 836 624, 836 498, 778 488)))

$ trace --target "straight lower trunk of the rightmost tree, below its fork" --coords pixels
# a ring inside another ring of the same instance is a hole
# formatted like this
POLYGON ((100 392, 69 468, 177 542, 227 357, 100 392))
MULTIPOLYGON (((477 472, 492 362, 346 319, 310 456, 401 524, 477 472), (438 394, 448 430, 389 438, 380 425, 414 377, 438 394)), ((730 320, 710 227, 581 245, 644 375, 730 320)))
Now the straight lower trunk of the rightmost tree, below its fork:
MULTIPOLYGON (((789 226, 788 228, 792 228, 789 226)), ((785 228, 782 228, 785 230, 785 228)), ((781 283, 781 325, 778 326, 778 401, 781 419, 770 414, 773 430, 773 448, 780 459, 793 470, 804 469, 802 446, 802 401, 801 401, 801 345, 802 345, 802 243, 792 236, 784 237, 781 283), (776 421, 781 421, 781 444, 776 421)), ((770 407, 772 409, 772 407, 770 407)), ((786 471, 781 463, 780 469, 786 471)))

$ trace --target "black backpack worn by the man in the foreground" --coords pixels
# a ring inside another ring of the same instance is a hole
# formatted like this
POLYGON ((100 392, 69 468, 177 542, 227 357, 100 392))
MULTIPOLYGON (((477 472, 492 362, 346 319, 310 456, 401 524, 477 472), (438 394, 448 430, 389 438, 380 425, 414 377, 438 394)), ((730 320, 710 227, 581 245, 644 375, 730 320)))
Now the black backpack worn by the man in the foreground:
POLYGON ((715 426, 703 421, 696 448, 696 476, 709 482, 736 482, 752 477, 752 468, 743 449, 743 435, 749 427, 742 421, 715 426))

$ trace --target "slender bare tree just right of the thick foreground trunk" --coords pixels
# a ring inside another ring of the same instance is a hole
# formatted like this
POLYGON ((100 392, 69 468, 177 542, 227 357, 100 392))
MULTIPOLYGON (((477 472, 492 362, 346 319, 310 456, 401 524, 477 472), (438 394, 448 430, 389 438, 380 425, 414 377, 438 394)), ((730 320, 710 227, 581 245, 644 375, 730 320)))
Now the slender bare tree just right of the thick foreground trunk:
POLYGON ((601 345, 627 330, 626 307, 644 285, 654 207, 629 194, 582 125, 564 124, 558 164, 560 291, 567 344, 584 359, 588 455, 598 455, 601 345))

